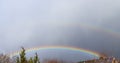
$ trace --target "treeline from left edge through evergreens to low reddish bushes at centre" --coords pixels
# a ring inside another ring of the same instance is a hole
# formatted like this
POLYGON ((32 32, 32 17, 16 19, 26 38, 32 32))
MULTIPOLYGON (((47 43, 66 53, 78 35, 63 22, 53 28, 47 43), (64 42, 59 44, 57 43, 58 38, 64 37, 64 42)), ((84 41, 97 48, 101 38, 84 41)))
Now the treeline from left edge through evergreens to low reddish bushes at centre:
POLYGON ((40 58, 38 57, 38 54, 35 53, 34 57, 26 57, 26 50, 22 47, 21 52, 19 53, 19 56, 10 58, 7 55, 0 54, 0 63, 73 63, 73 62, 66 62, 62 60, 52 59, 52 60, 43 60, 40 61, 40 58))

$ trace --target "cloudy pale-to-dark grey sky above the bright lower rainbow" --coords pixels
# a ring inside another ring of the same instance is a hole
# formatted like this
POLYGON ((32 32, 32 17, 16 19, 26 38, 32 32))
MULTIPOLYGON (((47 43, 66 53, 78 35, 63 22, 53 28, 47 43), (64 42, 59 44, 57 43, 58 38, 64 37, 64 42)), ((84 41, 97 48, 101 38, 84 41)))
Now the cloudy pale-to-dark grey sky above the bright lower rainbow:
POLYGON ((120 0, 0 0, 0 51, 75 46, 120 58, 120 0))

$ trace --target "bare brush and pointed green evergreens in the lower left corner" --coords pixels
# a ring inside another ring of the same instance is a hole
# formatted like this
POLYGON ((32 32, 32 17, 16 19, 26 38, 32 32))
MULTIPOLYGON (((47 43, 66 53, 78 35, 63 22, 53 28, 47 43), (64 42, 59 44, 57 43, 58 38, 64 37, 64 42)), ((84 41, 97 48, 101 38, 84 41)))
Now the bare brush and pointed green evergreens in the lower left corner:
POLYGON ((15 59, 11 59, 7 55, 0 54, 0 63, 40 63, 38 54, 36 53, 34 57, 29 59, 26 57, 25 49, 22 47, 22 50, 15 59))

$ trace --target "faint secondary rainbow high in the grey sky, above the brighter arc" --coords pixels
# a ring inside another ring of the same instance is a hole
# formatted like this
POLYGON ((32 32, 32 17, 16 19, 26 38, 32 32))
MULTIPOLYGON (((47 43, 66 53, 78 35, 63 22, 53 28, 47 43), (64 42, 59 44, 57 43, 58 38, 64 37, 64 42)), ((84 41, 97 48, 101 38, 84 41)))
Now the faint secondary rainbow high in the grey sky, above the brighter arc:
MULTIPOLYGON (((54 20, 52 20, 54 21, 54 20)), ((107 27, 104 27, 104 26, 99 26, 99 25, 94 25, 94 23, 90 24, 90 23, 87 23, 87 22, 78 22, 78 23, 74 23, 74 22, 62 22, 62 23, 59 23, 59 24, 56 24, 56 22, 54 23, 51 23, 49 25, 56 25, 56 26, 67 26, 67 27, 70 27, 70 26, 77 26, 77 27, 80 27, 80 28, 83 28, 83 29, 88 29, 88 30, 93 30, 93 31, 97 31, 97 32, 103 32, 103 33, 106 33, 106 34, 109 34, 115 38, 120 38, 120 31, 119 30, 116 30, 116 29, 112 29, 112 28, 107 28, 107 27)))

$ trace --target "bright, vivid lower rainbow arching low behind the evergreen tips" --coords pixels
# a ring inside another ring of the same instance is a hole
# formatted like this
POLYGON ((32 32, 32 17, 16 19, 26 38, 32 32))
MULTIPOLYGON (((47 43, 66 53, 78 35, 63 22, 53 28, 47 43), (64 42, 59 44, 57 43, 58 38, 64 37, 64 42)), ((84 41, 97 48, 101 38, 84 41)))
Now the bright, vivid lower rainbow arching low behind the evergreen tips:
MULTIPOLYGON (((71 46, 41 46, 41 47, 33 47, 33 48, 26 49, 26 53, 33 52, 33 51, 39 51, 39 50, 45 50, 45 49, 73 50, 73 51, 78 51, 78 52, 83 52, 83 53, 86 53, 86 54, 90 54, 90 55, 93 55, 93 56, 95 56, 97 58, 102 56, 101 54, 99 54, 97 52, 94 52, 94 51, 91 51, 91 50, 86 50, 86 49, 83 49, 83 48, 71 47, 71 46)), ((13 52, 13 53, 9 54, 9 56, 10 57, 14 57, 16 55, 19 55, 19 53, 20 53, 20 51, 13 52)))

